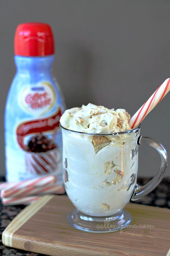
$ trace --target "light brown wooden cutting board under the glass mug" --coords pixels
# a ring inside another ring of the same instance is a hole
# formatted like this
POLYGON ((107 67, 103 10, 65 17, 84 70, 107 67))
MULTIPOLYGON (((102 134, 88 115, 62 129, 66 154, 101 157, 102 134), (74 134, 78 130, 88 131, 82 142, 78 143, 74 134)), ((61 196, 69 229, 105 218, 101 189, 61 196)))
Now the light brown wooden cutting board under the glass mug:
POLYGON ((130 227, 122 232, 89 233, 67 223, 73 208, 67 196, 44 196, 13 219, 2 234, 2 242, 52 256, 170 255, 169 209, 129 203, 125 209, 132 214, 130 227))

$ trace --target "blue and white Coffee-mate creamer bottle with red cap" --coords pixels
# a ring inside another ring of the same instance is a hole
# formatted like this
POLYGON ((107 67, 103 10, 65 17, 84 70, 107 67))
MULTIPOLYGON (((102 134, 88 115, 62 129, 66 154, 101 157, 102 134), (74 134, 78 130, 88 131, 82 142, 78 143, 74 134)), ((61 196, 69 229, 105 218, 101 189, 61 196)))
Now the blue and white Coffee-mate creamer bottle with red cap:
POLYGON ((20 24, 14 48, 17 72, 5 109, 6 180, 56 174, 62 185, 59 120, 64 100, 50 72, 54 61, 51 27, 20 24))

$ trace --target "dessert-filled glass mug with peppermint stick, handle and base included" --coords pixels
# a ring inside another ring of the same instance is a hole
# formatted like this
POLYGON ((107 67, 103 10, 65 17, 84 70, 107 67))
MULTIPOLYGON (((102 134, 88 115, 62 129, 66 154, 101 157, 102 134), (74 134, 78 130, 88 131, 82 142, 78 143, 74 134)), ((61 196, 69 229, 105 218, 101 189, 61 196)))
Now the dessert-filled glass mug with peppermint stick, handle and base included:
POLYGON ((71 226, 88 232, 125 228, 132 219, 125 205, 147 195, 163 179, 166 149, 157 140, 141 136, 140 123, 169 90, 170 79, 166 79, 131 118, 124 109, 94 104, 65 111, 60 119, 64 182, 76 207, 67 216, 71 226), (155 148, 161 158, 159 170, 144 186, 136 183, 141 144, 155 148))

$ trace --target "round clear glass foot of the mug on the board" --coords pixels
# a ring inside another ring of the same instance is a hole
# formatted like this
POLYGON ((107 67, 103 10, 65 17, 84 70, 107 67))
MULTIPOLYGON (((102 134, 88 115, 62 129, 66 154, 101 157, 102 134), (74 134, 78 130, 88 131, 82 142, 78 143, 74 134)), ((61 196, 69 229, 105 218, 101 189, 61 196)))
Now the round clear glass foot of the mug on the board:
POLYGON ((69 212, 67 220, 72 227, 83 231, 107 233, 126 228, 131 223, 132 215, 126 210, 121 210, 115 215, 94 217, 74 209, 69 212))

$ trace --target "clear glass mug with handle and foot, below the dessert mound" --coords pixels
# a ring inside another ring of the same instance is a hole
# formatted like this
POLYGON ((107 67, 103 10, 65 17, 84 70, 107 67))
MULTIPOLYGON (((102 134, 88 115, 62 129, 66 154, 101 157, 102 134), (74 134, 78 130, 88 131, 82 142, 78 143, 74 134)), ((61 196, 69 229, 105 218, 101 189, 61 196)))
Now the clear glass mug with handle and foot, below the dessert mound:
POLYGON ((140 126, 112 134, 60 127, 64 183, 76 208, 68 214, 70 225, 89 232, 112 232, 129 225, 132 216, 125 205, 147 195, 163 179, 168 166, 163 145, 140 136, 140 126), (145 186, 136 183, 140 144, 154 147, 161 157, 157 174, 145 186))

